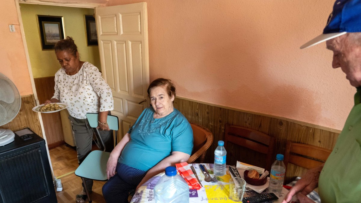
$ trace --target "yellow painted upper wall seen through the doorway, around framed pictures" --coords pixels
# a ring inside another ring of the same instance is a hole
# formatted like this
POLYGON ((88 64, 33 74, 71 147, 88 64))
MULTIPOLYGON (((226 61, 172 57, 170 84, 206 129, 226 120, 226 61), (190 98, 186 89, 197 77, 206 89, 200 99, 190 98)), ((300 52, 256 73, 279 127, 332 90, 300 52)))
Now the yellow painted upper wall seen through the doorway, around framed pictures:
POLYGON ((54 76, 60 68, 54 50, 42 50, 36 15, 63 16, 65 36, 71 36, 82 61, 100 69, 98 46, 87 46, 84 15, 93 15, 94 9, 20 4, 27 47, 34 78, 54 76))

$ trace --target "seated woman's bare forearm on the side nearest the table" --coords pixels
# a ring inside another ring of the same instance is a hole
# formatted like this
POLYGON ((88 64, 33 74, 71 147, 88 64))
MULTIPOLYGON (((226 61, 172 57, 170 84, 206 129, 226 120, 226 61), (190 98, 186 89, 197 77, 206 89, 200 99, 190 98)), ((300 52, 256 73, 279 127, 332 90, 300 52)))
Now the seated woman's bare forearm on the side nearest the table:
POLYGON ((169 166, 174 166, 177 163, 186 162, 191 155, 186 154, 184 152, 174 151, 172 152, 172 155, 166 157, 165 159, 161 160, 157 165, 155 165, 153 168, 149 169, 147 174, 145 174, 142 181, 140 181, 139 185, 136 187, 138 188, 143 185, 147 180, 149 180, 151 177, 155 176, 156 174, 163 172, 165 168, 169 166))

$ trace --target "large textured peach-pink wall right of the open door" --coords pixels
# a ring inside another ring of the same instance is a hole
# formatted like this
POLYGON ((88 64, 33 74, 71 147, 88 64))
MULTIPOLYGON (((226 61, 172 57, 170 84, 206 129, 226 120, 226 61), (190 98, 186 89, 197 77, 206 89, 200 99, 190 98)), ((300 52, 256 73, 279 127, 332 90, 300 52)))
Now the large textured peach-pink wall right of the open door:
POLYGON ((178 96, 341 130, 355 88, 322 33, 334 0, 109 0, 148 4, 150 80, 178 96))

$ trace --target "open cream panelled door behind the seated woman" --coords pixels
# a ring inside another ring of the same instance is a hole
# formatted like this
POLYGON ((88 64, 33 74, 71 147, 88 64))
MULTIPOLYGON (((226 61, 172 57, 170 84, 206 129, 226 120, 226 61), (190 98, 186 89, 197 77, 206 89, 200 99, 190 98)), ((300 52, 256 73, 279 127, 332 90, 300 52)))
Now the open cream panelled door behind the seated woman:
POLYGON ((147 3, 97 7, 95 14, 101 70, 113 92, 121 138, 149 104, 147 3))

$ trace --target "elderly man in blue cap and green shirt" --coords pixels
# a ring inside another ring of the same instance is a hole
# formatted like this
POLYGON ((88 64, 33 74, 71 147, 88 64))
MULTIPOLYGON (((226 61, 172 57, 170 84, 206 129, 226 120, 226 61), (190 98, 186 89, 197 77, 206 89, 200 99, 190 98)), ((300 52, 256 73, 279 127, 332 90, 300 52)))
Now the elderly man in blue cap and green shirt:
POLYGON ((310 169, 282 203, 310 202, 305 195, 318 186, 322 202, 361 202, 361 0, 337 0, 323 34, 301 46, 326 41, 332 68, 341 68, 356 87, 355 106, 326 163, 310 169))

